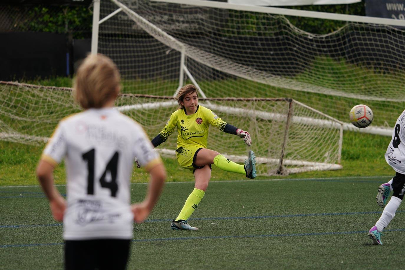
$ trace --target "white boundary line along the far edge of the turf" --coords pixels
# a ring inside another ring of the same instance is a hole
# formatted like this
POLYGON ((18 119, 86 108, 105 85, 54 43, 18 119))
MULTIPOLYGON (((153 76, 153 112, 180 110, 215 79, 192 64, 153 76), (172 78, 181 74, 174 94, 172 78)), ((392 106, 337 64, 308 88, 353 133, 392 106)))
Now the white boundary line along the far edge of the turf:
MULTIPOLYGON (((273 179, 250 179, 250 180, 218 180, 211 181, 210 183, 232 183, 232 182, 265 182, 265 181, 311 181, 311 180, 337 180, 337 179, 378 179, 378 178, 392 178, 392 175, 382 176, 341 176, 341 177, 320 177, 320 178, 273 178, 273 179)), ((166 184, 187 184, 194 183, 192 181, 184 182, 166 182, 166 184)), ((146 185, 148 183, 131 183, 131 185, 146 185)), ((57 187, 64 187, 65 184, 55 185, 57 187)), ((0 186, 0 188, 15 188, 15 187, 39 187, 39 185, 25 185, 25 186, 0 186)))

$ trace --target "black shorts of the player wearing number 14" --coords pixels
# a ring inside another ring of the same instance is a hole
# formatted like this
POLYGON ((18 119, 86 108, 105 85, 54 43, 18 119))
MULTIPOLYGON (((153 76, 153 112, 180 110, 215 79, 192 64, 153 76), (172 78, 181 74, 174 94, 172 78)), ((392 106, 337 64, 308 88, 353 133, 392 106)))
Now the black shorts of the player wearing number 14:
POLYGON ((131 240, 65 241, 65 269, 125 269, 131 240))

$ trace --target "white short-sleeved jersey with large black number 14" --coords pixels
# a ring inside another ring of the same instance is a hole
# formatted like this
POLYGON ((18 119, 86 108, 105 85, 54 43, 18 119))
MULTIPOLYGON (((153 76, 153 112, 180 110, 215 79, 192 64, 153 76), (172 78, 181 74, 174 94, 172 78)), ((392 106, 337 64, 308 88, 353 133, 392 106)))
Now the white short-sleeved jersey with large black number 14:
POLYGON ((146 169, 160 163, 141 126, 114 108, 67 117, 60 121, 42 159, 56 165, 64 157, 64 239, 131 239, 134 158, 146 169))

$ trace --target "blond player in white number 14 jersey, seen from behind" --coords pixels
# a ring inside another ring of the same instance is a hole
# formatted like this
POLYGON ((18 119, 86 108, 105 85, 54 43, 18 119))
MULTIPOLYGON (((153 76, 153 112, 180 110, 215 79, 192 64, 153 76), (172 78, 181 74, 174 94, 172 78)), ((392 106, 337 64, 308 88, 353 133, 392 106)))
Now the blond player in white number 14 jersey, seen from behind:
POLYGON ((104 55, 79 67, 75 99, 85 109, 62 119, 40 159, 37 176, 62 221, 66 269, 125 269, 133 221, 144 221, 156 203, 166 171, 142 127, 113 108, 119 72, 104 55), (53 169, 65 158, 66 202, 53 185, 53 169), (130 204, 134 160, 149 172, 145 200, 130 204))

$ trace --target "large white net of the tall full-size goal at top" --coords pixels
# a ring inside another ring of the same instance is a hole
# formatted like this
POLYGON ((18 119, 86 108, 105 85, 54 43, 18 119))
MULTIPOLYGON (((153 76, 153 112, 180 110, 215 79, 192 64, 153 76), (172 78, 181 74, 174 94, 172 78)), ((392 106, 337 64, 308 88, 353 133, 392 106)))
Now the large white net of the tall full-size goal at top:
POLYGON ((125 91, 172 96, 197 83, 207 97, 294 98, 345 130, 358 130, 350 108, 367 104, 375 117, 362 131, 390 136, 405 107, 404 29, 347 21, 314 34, 283 15, 180 3, 101 0, 98 52, 125 91))

